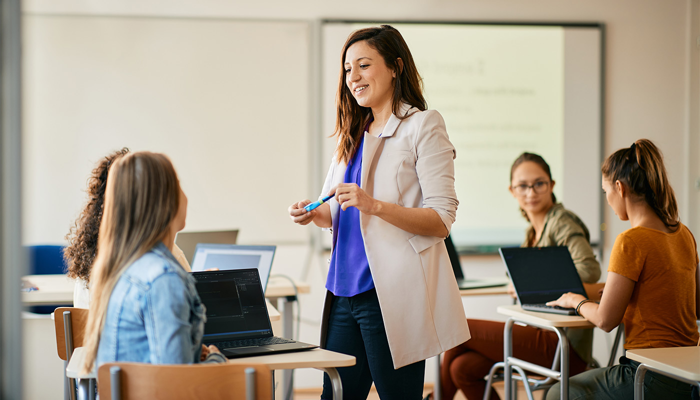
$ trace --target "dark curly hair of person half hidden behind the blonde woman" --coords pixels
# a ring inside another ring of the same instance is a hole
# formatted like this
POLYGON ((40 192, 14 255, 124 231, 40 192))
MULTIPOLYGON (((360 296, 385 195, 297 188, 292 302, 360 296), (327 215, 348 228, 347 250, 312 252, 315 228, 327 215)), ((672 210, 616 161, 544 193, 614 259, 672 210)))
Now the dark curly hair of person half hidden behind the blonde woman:
POLYGON ((85 282, 90 280, 90 269, 97 254, 97 236, 99 224, 102 222, 107 173, 112 163, 126 153, 129 153, 129 149, 125 147, 102 158, 87 179, 87 205, 66 235, 69 245, 63 250, 68 277, 79 278, 85 282))

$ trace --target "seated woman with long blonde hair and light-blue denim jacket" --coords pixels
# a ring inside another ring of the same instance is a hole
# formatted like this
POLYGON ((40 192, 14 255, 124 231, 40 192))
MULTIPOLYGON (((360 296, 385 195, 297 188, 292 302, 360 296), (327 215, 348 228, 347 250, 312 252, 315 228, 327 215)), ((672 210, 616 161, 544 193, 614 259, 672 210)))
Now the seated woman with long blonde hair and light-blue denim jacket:
POLYGON ((186 215, 165 155, 130 153, 113 163, 90 277, 85 371, 113 361, 225 361, 216 347, 202 346, 205 308, 171 251, 186 215))

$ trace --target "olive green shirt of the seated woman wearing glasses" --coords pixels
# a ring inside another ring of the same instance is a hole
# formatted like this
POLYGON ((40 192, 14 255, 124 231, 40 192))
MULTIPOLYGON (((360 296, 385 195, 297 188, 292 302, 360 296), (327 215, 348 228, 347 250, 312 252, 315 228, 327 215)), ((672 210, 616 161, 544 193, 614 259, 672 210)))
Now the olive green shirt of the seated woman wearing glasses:
MULTIPOLYGON (((521 247, 566 246, 583 282, 598 282, 601 277, 601 265, 591 249, 588 228, 576 214, 565 209, 561 203, 556 203, 549 209, 542 236, 537 242, 534 241, 535 229, 530 226, 526 230, 525 242, 521 247)), ((588 364, 592 364, 593 329, 569 329, 566 336, 576 354, 588 364)))

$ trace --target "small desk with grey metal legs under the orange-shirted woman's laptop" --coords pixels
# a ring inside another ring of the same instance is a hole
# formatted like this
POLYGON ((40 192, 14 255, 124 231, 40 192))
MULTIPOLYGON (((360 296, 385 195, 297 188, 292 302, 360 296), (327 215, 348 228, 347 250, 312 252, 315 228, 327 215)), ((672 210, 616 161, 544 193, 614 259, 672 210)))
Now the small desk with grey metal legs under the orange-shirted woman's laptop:
POLYGON ((573 315, 552 314, 549 312, 533 312, 524 311, 520 305, 501 305, 496 308, 499 314, 507 315, 509 318, 505 322, 503 329, 503 368, 504 374, 504 389, 505 398, 512 399, 512 368, 515 368, 522 376, 525 376, 523 370, 532 371, 540 375, 546 376, 549 379, 559 380, 561 382, 561 399, 568 399, 568 378, 569 378, 569 345, 566 338, 566 328, 589 328, 594 326, 583 317, 573 315), (523 324, 536 326, 542 329, 554 331, 559 337, 559 349, 557 350, 561 357, 559 371, 556 371, 556 357, 552 368, 545 368, 528 361, 512 357, 512 331, 513 324, 521 322, 523 324))

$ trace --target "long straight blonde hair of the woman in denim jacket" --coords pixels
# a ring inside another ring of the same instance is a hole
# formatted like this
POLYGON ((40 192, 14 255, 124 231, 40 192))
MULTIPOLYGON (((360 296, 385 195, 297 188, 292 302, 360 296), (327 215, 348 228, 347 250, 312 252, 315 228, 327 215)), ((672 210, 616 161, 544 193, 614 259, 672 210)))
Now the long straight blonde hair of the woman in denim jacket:
POLYGON ((179 196, 177 174, 163 154, 131 153, 111 166, 90 276, 83 373, 92 371, 97 358, 112 290, 126 268, 167 235, 179 196))

